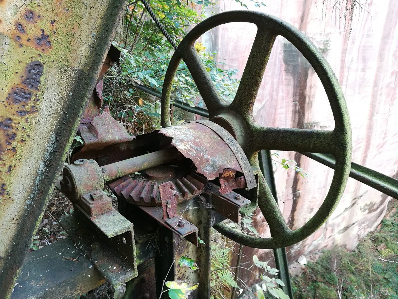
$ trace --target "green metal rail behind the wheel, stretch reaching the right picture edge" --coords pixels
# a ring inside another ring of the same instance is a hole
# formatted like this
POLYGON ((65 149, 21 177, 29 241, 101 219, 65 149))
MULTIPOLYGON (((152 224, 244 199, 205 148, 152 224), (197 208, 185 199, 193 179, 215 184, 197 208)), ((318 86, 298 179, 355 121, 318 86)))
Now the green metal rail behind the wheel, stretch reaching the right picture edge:
MULTIPOLYGON (((324 153, 302 153, 315 161, 318 161, 330 168, 334 169, 336 160, 330 154, 324 153)), ((364 183, 372 188, 375 188, 382 193, 398 199, 398 180, 388 177, 380 172, 357 163, 351 163, 351 170, 349 176, 361 183, 364 183)))

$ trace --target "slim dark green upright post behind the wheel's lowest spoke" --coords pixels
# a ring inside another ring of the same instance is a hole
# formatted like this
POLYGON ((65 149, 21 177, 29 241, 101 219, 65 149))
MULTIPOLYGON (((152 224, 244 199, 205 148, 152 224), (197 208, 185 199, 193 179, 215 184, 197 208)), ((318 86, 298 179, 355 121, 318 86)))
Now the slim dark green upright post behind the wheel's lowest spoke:
MULTIPOLYGON (((272 169, 271 152, 265 149, 259 151, 258 161, 260 165, 260 170, 263 173, 265 180, 267 181, 268 187, 269 189, 271 189, 275 201, 278 202, 278 196, 275 186, 275 177, 273 175, 272 169)), ((281 279, 283 283, 285 283, 285 286, 282 287, 282 289, 286 295, 289 295, 289 297, 293 299, 293 291, 290 283, 289 264, 287 263, 286 249, 277 248, 273 251, 275 256, 275 265, 276 268, 279 270, 279 279, 281 279)))

